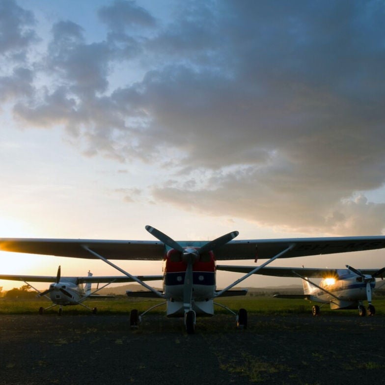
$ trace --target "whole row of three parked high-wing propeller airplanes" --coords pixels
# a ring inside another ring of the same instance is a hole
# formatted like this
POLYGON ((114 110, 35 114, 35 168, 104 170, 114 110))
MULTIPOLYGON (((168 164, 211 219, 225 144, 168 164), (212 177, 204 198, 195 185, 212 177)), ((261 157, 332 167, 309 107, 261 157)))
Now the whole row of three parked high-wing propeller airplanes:
MULTIPOLYGON (((85 239, 26 239, 0 238, 0 250, 18 253, 44 254, 72 258, 100 259, 121 274, 120 276, 61 277, 60 269, 56 277, 31 275, 0 275, 0 279, 17 279, 26 283, 32 281, 54 282, 40 296, 50 295, 53 305, 83 304, 101 288, 91 291, 91 283, 137 282, 146 292, 128 292, 129 296, 146 296, 164 299, 159 305, 166 305, 167 317, 182 317, 189 334, 195 330, 197 316, 214 315, 214 305, 225 307, 215 300, 219 297, 245 295, 246 290, 232 288, 250 275, 275 275, 300 277, 304 282, 302 298, 322 303, 330 303, 331 308, 357 307, 360 315, 374 314, 372 291, 376 277, 381 277, 382 269, 357 270, 347 269, 302 269, 267 267, 277 258, 291 258, 319 254, 364 251, 385 247, 385 236, 371 237, 331 237, 331 238, 291 238, 273 240, 239 240, 238 231, 225 234, 211 242, 174 241, 152 226, 146 226, 156 241, 112 241, 85 239), (258 266, 216 265, 220 260, 267 261, 258 266), (120 268, 113 260, 163 260, 163 275, 135 276, 120 268), (216 271, 226 270, 244 273, 244 275, 217 290, 216 271), (310 278, 324 278, 318 285, 310 278), (330 280, 333 278, 334 281, 330 280), (163 280, 163 290, 158 290, 145 281, 163 280), (85 283, 85 288, 81 285, 85 283), (363 301, 368 301, 367 310, 363 301)), ((28 283, 29 284, 29 283, 28 283)), ((32 287, 32 286, 31 286, 32 287)), ((287 297, 287 296, 286 296, 287 297)), ((159 306, 157 305, 157 306, 159 306)), ((50 306, 51 307, 51 306, 50 306)), ((87 306, 85 306, 87 307, 87 306)), ((247 327, 247 311, 238 313, 226 307, 236 315, 237 325, 247 327)), ((90 309, 93 310, 93 309, 90 309)), ((150 309, 148 309, 150 310, 150 309)), ((141 317, 137 310, 130 313, 130 324, 137 327, 141 317)), ((42 311, 42 310, 41 310, 42 311)), ((61 311, 61 310, 60 310, 61 311)), ((96 310, 93 310, 96 311, 96 310)), ((313 314, 319 314, 319 306, 313 306, 313 314)))

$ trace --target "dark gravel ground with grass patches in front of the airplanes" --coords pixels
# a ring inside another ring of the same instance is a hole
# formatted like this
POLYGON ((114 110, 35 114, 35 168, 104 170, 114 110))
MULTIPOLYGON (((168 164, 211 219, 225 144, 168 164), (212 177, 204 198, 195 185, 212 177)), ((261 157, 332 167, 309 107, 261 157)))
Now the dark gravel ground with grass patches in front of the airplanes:
POLYGON ((382 383, 385 317, 249 315, 197 320, 149 315, 1 315, 0 384, 382 383))

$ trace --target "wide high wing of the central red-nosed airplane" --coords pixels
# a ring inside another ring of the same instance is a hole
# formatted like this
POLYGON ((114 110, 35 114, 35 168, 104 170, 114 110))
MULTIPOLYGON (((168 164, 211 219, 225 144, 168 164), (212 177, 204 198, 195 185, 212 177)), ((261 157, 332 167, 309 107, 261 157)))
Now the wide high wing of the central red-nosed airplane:
MULTIPOLYGON (((180 241, 182 247, 203 247, 205 241, 180 241)), ((385 248, 385 236, 291 238, 230 241, 215 249, 217 260, 270 259, 385 248)), ((0 250, 29 254, 95 259, 88 250, 106 259, 162 260, 167 247, 160 241, 0 238, 0 250)))

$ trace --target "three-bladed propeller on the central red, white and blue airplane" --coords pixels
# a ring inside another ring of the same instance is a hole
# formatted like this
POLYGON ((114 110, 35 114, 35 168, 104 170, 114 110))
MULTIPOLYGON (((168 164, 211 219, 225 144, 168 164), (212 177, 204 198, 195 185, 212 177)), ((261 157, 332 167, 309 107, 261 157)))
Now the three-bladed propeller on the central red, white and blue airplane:
POLYGON ((231 233, 222 235, 221 237, 206 243, 200 248, 194 248, 194 247, 184 248, 181 245, 179 245, 178 242, 174 241, 168 235, 162 233, 156 228, 148 225, 145 226, 145 228, 150 234, 152 234, 159 241, 163 242, 165 245, 175 250, 178 250, 182 253, 182 260, 187 264, 186 274, 185 274, 185 283, 183 287, 183 304, 184 304, 185 311, 191 310, 192 280, 193 280, 192 265, 199 259, 200 255, 208 251, 213 251, 216 248, 225 245, 226 243, 230 242, 239 234, 238 231, 232 231, 231 233))

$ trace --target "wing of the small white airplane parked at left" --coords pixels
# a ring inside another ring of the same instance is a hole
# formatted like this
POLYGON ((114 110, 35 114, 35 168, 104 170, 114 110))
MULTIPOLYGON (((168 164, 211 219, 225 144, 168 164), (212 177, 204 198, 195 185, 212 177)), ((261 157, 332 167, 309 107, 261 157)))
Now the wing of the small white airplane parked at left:
MULTIPOLYGON (((139 275, 138 278, 142 281, 157 281, 163 279, 163 275, 139 275)), ((10 281, 23 282, 55 282, 55 276, 48 275, 6 275, 0 274, 0 279, 10 281)), ((120 283, 120 282, 134 282, 134 279, 126 275, 117 276, 83 276, 83 277, 61 277, 61 281, 77 282, 77 283, 120 283)))

